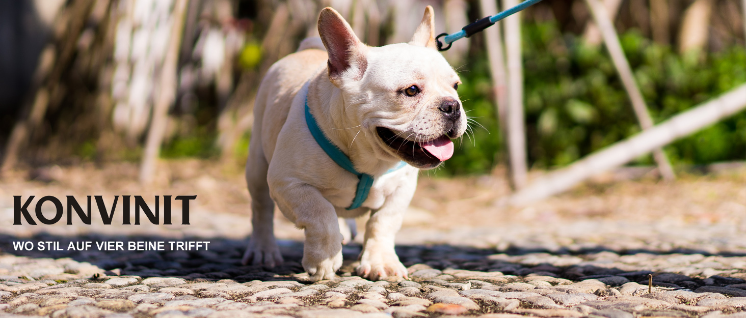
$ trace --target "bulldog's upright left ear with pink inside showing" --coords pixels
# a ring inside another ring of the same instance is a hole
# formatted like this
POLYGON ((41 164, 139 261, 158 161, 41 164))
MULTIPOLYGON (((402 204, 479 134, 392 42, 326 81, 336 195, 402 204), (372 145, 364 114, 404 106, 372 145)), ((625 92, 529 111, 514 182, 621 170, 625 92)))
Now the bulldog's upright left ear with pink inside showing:
POLYGON ((336 10, 325 7, 319 14, 319 36, 329 54, 329 80, 339 87, 342 78, 363 78, 368 68, 366 45, 357 39, 350 25, 336 10))

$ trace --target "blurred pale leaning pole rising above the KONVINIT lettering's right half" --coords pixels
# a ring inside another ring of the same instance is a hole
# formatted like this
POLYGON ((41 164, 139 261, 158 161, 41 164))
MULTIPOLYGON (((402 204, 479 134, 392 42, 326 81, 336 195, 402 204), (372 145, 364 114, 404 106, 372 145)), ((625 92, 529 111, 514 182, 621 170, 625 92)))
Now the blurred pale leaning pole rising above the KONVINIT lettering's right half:
POLYGON ((173 25, 169 36, 169 47, 166 57, 163 57, 163 65, 160 69, 158 81, 157 99, 153 109, 153 121, 148 130, 148 139, 145 141, 145 151, 142 153, 140 165, 140 183, 148 184, 153 180, 155 165, 160 153, 160 144, 163 134, 166 133, 166 121, 168 121, 169 106, 176 98, 176 71, 181 45, 181 34, 184 28, 184 16, 186 4, 189 0, 176 0, 172 13, 173 25))

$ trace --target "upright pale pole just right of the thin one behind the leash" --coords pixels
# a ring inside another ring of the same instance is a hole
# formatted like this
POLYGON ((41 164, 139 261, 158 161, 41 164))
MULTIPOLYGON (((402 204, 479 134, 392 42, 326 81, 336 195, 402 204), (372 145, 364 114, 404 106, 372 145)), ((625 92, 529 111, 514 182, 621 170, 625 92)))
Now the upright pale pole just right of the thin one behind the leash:
MULTIPOLYGON (((504 0, 504 9, 518 4, 518 0, 504 0)), ((505 20, 505 46, 508 74, 508 152, 510 157, 510 182, 514 189, 527 183, 526 129, 523 115, 523 60, 521 54, 521 13, 505 20)))

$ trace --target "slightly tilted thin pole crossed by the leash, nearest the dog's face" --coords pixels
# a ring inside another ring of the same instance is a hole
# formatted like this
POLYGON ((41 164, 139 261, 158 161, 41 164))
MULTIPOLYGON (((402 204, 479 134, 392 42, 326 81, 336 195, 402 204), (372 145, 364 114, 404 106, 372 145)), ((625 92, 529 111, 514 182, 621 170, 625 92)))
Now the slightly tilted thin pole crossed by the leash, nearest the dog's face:
MULTIPOLYGON (((498 12, 498 5, 495 0, 480 0, 482 16, 490 16, 498 12)), ((503 39, 500 29, 500 23, 492 25, 492 28, 486 28, 483 31, 484 40, 487 45, 487 57, 489 59, 489 73, 492 75, 492 93, 495 95, 495 113, 498 117, 500 132, 502 135, 502 144, 507 144, 507 72, 505 71, 505 54, 503 52, 503 39)), ((507 151, 504 151, 507 153, 507 151)), ((510 172, 506 179, 510 180, 510 172)), ((512 182, 511 182, 512 184, 512 182)))

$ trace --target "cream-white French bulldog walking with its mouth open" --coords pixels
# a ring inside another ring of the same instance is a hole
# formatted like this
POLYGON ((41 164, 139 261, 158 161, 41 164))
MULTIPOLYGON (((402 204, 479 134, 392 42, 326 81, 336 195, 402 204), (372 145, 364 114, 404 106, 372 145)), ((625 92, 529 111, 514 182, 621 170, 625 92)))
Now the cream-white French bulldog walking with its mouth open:
POLYGON ((411 42, 369 47, 327 7, 319 15, 321 41, 305 39, 269 69, 254 106, 246 162, 254 230, 244 264, 272 267, 283 260, 272 229, 274 201, 304 229, 302 263, 313 281, 333 279, 342 266, 338 218, 367 212, 357 274, 407 279, 394 236, 418 171, 450 158, 451 139, 466 130, 460 80, 437 51, 434 30, 428 6, 411 42), (372 177, 360 207, 353 202, 362 179, 330 157, 312 135, 314 125, 354 171, 372 177))

